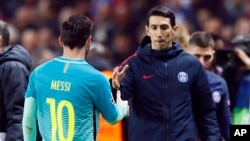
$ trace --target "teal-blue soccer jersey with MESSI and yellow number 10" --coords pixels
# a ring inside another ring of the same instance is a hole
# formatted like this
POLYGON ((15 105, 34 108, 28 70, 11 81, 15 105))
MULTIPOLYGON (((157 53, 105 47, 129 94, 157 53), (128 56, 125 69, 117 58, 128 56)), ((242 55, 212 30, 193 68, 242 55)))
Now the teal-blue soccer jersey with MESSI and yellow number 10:
POLYGON ((126 115, 126 108, 114 103, 106 77, 85 60, 58 57, 38 66, 25 97, 36 101, 45 141, 92 141, 99 113, 111 124, 126 115))

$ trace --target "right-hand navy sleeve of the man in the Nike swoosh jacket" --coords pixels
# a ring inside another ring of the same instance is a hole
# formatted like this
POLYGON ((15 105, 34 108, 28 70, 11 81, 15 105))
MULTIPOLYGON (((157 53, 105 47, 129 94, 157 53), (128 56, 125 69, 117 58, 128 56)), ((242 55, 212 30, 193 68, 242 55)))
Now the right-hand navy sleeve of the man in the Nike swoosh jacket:
POLYGON ((209 83, 201 64, 192 84, 191 95, 193 112, 202 141, 220 141, 220 130, 216 118, 215 103, 213 102, 209 83))

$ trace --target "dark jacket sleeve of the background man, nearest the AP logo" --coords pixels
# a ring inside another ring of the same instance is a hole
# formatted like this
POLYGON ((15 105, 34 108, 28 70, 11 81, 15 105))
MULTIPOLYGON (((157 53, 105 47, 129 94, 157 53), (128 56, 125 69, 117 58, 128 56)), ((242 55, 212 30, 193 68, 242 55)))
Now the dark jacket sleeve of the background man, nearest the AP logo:
POLYGON ((217 118, 223 138, 225 139, 225 141, 229 141, 230 137, 229 129, 232 123, 231 112, 229 108, 229 94, 225 81, 222 81, 222 86, 224 93, 222 94, 221 102, 217 107, 217 118))

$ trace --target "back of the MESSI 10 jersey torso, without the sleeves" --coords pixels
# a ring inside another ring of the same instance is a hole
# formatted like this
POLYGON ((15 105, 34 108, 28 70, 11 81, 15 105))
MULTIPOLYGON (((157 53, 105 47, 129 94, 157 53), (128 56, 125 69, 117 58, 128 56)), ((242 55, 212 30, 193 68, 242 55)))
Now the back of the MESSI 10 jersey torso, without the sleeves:
POLYGON ((104 76, 84 60, 63 57, 39 66, 34 73, 43 140, 93 140, 93 96, 97 80, 104 76))

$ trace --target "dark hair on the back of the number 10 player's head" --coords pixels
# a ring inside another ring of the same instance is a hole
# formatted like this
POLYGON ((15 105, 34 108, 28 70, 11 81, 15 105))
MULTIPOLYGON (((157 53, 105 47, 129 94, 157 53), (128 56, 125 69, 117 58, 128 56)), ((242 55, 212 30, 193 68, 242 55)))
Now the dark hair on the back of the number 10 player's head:
POLYGON ((64 21, 60 28, 63 43, 71 49, 82 48, 91 35, 93 22, 84 15, 73 15, 64 21))

